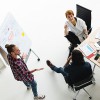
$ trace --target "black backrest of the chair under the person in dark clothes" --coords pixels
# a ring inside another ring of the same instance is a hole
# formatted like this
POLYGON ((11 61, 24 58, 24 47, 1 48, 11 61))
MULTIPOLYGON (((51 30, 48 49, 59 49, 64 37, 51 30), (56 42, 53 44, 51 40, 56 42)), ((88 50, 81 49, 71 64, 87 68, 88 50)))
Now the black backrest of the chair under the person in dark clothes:
POLYGON ((91 85, 93 84, 93 75, 90 75, 89 77, 87 77, 86 79, 80 81, 80 82, 77 82, 77 83, 74 83, 72 88, 77 91, 77 90, 80 90, 88 85, 91 85))

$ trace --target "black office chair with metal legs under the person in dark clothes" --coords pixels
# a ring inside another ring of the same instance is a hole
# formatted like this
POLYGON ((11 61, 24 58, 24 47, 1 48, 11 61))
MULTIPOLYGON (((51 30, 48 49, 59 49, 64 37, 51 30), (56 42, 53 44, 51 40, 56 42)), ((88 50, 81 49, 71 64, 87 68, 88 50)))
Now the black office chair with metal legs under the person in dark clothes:
POLYGON ((80 92, 81 89, 83 89, 89 95, 89 99, 92 99, 92 97, 90 96, 90 94, 85 90, 85 87, 87 87, 87 86, 89 86, 91 84, 95 85, 95 79, 94 79, 93 75, 87 77, 86 79, 84 79, 82 81, 74 83, 71 86, 69 85, 69 87, 71 87, 71 89, 74 92, 77 92, 73 100, 76 100, 76 97, 79 94, 79 92, 80 92))

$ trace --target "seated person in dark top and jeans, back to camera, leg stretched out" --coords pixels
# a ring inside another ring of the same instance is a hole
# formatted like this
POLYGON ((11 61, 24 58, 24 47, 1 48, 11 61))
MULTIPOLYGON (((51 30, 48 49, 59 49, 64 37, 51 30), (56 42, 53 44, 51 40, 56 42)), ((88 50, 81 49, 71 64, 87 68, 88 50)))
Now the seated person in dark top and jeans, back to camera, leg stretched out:
POLYGON ((49 60, 47 60, 46 63, 51 70, 61 73, 64 76, 66 83, 69 85, 92 75, 90 63, 84 60, 83 54, 79 50, 72 51, 72 55, 68 58, 63 68, 57 68, 49 60), (72 62, 70 62, 71 60, 72 62))

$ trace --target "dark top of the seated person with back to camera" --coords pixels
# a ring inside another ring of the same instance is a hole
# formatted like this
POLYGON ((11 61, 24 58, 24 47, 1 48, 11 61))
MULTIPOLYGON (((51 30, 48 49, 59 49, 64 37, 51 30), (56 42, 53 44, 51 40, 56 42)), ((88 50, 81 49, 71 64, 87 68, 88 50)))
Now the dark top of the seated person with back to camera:
POLYGON ((80 66, 77 66, 75 63, 71 63, 71 65, 66 66, 64 70, 68 73, 67 80, 70 85, 82 81, 92 75, 92 69, 89 62, 84 62, 80 66))

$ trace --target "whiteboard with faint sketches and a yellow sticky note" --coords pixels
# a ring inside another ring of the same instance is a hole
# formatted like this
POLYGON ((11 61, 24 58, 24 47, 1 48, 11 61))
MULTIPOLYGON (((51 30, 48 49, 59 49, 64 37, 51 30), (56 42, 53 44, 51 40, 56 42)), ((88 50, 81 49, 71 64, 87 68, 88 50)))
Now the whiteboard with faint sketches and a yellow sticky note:
POLYGON ((24 56, 28 55, 32 44, 11 13, 7 14, 0 26, 0 46, 7 53, 6 44, 17 45, 24 56))

